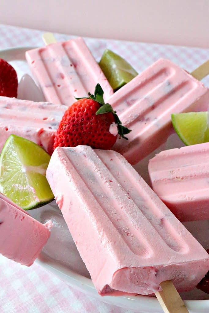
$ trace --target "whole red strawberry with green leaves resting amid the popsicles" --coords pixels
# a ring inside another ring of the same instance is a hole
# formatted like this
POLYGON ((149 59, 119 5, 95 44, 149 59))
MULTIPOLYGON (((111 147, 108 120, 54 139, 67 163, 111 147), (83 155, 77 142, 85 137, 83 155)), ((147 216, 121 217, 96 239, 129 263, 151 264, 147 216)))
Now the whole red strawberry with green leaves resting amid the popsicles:
POLYGON ((128 139, 124 134, 128 134, 130 130, 122 126, 116 111, 110 104, 104 102, 103 90, 99 84, 95 88, 94 95, 89 93, 88 98, 76 98, 76 100, 62 117, 55 136, 54 149, 58 146, 78 145, 110 149, 118 134, 128 139), (118 134, 110 133, 110 126, 114 125, 113 123, 118 127, 118 134))

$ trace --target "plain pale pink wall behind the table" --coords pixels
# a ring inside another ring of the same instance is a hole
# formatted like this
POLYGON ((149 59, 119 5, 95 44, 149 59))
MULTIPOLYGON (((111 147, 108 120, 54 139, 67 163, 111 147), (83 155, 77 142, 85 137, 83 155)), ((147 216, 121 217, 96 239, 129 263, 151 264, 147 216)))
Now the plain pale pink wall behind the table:
POLYGON ((209 48, 208 0, 7 0, 1 23, 88 37, 209 48))

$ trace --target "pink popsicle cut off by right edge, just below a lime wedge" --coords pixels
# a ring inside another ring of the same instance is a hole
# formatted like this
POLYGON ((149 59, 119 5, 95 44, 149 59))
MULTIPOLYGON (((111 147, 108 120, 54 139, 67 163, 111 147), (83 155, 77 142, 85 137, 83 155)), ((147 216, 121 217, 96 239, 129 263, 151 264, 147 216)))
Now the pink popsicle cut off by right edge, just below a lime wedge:
POLYGON ((180 221, 209 219, 209 142, 162 151, 148 168, 154 192, 180 221))

